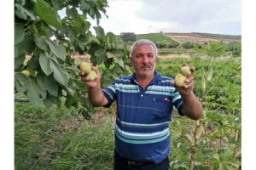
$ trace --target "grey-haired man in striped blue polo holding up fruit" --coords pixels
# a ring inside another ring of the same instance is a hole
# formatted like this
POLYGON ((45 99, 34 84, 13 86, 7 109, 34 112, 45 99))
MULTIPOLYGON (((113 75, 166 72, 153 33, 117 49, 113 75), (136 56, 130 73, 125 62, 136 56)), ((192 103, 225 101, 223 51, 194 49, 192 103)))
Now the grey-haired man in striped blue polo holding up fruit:
POLYGON ((108 88, 101 88, 96 67, 92 69, 98 77, 93 82, 88 81, 84 72, 79 74, 89 87, 92 105, 109 107, 117 101, 114 170, 167 170, 173 106, 182 116, 194 120, 202 116, 201 103, 193 92, 193 76, 186 79, 183 88, 176 87, 172 78, 161 77, 154 70, 157 48, 147 39, 133 44, 130 60, 135 72, 117 78, 108 88))

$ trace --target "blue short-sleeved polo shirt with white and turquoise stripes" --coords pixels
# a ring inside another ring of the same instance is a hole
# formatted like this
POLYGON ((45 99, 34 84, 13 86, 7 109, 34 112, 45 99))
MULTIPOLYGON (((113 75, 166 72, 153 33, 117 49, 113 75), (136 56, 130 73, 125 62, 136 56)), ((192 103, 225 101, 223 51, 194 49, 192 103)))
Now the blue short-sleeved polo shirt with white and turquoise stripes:
POLYGON ((115 123, 115 150, 119 156, 134 161, 158 163, 171 150, 169 123, 173 106, 180 115, 183 101, 171 84, 170 77, 161 77, 154 71, 154 79, 143 88, 135 73, 117 78, 102 89, 109 107, 117 100, 115 123))

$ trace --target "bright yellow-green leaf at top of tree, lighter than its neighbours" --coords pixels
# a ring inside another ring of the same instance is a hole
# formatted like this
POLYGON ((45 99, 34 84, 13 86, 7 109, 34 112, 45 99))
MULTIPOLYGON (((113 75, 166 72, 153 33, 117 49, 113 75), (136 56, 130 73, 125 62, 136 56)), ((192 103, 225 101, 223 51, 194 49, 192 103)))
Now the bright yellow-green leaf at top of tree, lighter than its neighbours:
POLYGON ((49 3, 44 0, 36 0, 34 11, 41 20, 44 20, 50 26, 61 28, 61 20, 58 19, 58 12, 51 8, 49 3))

